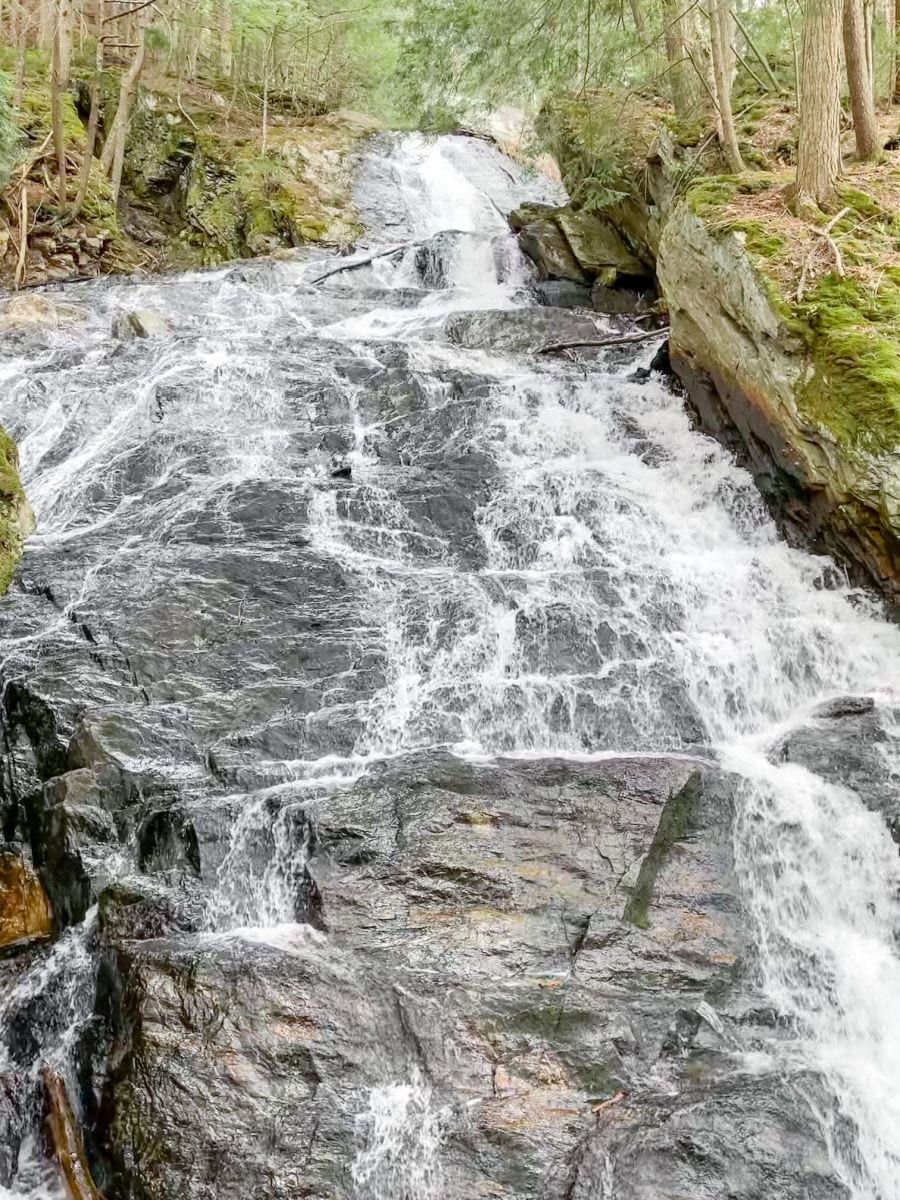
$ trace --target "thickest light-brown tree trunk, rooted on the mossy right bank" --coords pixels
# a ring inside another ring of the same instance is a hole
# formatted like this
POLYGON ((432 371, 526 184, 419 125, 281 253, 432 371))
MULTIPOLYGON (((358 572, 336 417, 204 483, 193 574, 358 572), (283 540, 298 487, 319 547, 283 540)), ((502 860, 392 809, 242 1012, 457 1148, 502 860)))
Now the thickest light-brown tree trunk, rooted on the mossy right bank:
POLYGON ((829 204, 840 175, 841 11, 842 0, 806 0, 797 144, 799 209, 829 204))

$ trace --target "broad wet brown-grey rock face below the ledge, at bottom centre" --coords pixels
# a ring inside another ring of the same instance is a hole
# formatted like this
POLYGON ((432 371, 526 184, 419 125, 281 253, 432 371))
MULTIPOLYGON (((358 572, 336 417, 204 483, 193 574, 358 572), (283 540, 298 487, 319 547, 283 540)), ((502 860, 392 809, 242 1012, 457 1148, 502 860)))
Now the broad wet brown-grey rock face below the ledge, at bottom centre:
POLYGON ((686 761, 427 756, 317 805, 326 934, 122 938, 113 905, 106 1153, 125 1194, 415 1194, 415 1172, 436 1170, 428 1195, 587 1196, 592 1158, 616 1148, 617 1194, 694 1184, 712 1200, 715 1158, 676 1146, 715 1128, 731 1175, 744 1163, 731 1194, 768 1178, 772 1196, 842 1196, 802 1117, 785 1126, 778 1081, 731 1078, 754 1019, 728 796, 686 761), (378 1157, 379 1104, 410 1118, 403 1162, 378 1157), (797 1156, 773 1171, 761 1147, 780 1139, 797 1156), (422 1162, 438 1148, 443 1166, 422 1162))

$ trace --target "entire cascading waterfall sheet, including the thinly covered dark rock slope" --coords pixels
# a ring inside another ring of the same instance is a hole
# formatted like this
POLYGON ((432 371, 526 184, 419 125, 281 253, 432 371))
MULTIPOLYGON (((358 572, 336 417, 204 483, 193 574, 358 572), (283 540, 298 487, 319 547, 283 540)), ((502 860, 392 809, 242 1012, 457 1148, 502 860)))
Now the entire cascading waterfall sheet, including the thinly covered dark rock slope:
MULTIPOLYGON (((83 331, 4 348, 0 415, 40 522, 5 601, 4 674, 74 731, 76 766, 98 745, 116 786, 138 781, 152 811, 114 874, 160 863, 175 905, 186 878, 199 888, 180 926, 198 948, 310 943, 342 962, 300 930, 319 905, 314 814, 385 762, 718 757, 739 781, 760 985, 790 1030, 779 1062, 826 1081, 810 1103, 835 1178, 890 1200, 896 846, 852 780, 778 746, 823 702, 872 697, 881 770, 900 780, 900 635, 779 540, 661 383, 516 349, 529 283, 502 214, 526 197, 553 198, 490 146, 402 138, 364 169, 376 240, 356 260, 73 287, 83 331), (178 336, 116 344, 112 317, 140 307, 178 336), (158 850, 174 797, 200 829, 199 883, 181 826, 158 850)), ((13 1062, 2 1028, 4 1070, 36 1086, 56 1051, 13 1062)), ((355 1194, 456 1195, 458 1111, 379 1055, 353 1092, 355 1194)), ((618 1195, 614 1154, 594 1182, 618 1195)))

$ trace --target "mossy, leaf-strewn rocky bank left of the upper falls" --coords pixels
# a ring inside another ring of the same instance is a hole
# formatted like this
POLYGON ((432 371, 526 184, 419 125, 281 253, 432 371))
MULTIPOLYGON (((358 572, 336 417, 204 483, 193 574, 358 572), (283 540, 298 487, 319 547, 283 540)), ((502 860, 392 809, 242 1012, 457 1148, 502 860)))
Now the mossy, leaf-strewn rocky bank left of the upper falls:
MULTIPOLYGON (((11 49, 0 43, 0 70, 11 62, 11 49)), ((100 154, 119 102, 118 70, 103 76, 84 202, 73 208, 70 196, 60 208, 48 158, 48 78, 42 55, 30 52, 16 114, 18 162, 0 222, 0 284, 211 266, 305 244, 346 248, 361 233, 352 167, 376 121, 344 110, 304 115, 289 108, 274 108, 263 121, 215 86, 178 84, 164 74, 148 73, 137 90, 115 202, 100 154)), ((76 66, 62 121, 70 170, 79 176, 90 104, 90 72, 76 66)))

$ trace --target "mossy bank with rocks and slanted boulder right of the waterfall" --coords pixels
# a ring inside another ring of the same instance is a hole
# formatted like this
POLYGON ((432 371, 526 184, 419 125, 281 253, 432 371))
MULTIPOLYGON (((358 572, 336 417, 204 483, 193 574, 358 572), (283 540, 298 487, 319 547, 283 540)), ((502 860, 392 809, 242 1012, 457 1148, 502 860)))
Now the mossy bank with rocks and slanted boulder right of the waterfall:
POLYGON ((707 143, 683 145, 646 106, 612 148, 592 146, 581 109, 564 116, 563 175, 582 191, 593 178, 592 220, 655 264, 672 366, 703 427, 754 470, 791 540, 896 604, 900 154, 865 173, 865 192, 850 172, 841 209, 810 223, 791 214, 791 168, 773 151, 722 175, 707 143))

